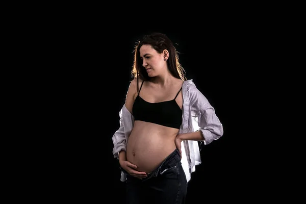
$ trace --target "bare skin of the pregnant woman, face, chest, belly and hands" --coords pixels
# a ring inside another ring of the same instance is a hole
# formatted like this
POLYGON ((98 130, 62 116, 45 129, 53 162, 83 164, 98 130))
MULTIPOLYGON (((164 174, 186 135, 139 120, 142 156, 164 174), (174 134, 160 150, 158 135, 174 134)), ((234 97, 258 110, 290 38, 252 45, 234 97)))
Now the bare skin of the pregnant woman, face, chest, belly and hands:
MULTIPOLYGON (((162 53, 150 45, 140 47, 142 66, 147 69, 150 81, 144 82, 139 96, 149 103, 172 100, 183 85, 183 80, 171 75, 167 67, 168 50, 162 53)), ((126 95, 125 106, 132 114, 137 97, 137 81, 133 80, 126 95)), ((142 81, 139 81, 139 87, 142 81)), ((182 109, 182 91, 175 99, 182 109)), ((134 127, 127 142, 126 152, 119 152, 119 163, 130 175, 143 179, 147 173, 154 171, 168 155, 179 149, 183 140, 203 140, 200 132, 178 134, 179 129, 155 123, 135 120, 134 127)))

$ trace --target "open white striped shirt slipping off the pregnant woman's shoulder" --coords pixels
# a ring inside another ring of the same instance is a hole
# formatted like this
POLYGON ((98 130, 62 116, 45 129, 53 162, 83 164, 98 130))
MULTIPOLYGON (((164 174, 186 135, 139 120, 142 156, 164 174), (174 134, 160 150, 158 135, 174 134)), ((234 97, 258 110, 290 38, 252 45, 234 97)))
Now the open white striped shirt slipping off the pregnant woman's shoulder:
MULTIPOLYGON (((184 81, 183 88, 183 115, 179 134, 201 131, 205 145, 223 135, 223 126, 215 114, 215 109, 208 99, 196 88, 192 80, 184 81)), ((126 151, 126 143, 134 126, 134 116, 126 109, 125 104, 119 112, 120 127, 114 133, 113 155, 119 159, 118 153, 126 151)), ((182 141, 182 166, 186 174, 187 182, 191 179, 191 173, 195 171, 195 165, 201 163, 198 141, 182 141)), ((126 180, 125 173, 121 172, 120 181, 126 180)))

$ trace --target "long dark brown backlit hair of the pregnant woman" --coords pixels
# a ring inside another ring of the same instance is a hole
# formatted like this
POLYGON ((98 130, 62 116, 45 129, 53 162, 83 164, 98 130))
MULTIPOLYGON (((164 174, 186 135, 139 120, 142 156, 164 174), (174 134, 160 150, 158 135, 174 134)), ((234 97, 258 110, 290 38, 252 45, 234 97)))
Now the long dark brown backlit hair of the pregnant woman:
POLYGON ((159 54, 167 49, 169 52, 169 58, 167 60, 167 65, 170 73, 173 77, 177 79, 182 79, 186 81, 185 70, 179 61, 179 52, 177 52, 172 41, 162 33, 152 33, 150 35, 145 35, 141 40, 136 42, 134 47, 134 62, 132 69, 132 78, 137 79, 137 90, 138 90, 138 79, 143 81, 149 81, 151 78, 148 76, 145 68, 142 66, 142 60, 140 58, 140 47, 142 45, 151 45, 159 54))

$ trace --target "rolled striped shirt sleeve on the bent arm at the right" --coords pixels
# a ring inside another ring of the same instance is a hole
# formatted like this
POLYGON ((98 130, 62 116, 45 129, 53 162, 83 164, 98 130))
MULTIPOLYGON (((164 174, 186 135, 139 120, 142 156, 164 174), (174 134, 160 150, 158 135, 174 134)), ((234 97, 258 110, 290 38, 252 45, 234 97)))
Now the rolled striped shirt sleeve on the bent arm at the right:
POLYGON ((197 125, 207 145, 223 135, 223 126, 208 99, 191 83, 188 85, 192 117, 197 118, 197 125))

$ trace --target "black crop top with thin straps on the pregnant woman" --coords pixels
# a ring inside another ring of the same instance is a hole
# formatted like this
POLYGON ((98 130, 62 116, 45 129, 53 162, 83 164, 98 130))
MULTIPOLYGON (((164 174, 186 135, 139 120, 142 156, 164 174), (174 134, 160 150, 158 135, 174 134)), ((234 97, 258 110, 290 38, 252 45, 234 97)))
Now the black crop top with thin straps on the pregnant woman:
POLYGON ((172 100, 150 103, 139 96, 142 85, 143 81, 133 105, 133 115, 135 120, 152 122, 180 129, 183 111, 176 103, 175 98, 179 95, 182 88, 177 92, 175 98, 172 100))

